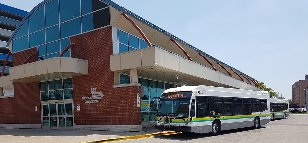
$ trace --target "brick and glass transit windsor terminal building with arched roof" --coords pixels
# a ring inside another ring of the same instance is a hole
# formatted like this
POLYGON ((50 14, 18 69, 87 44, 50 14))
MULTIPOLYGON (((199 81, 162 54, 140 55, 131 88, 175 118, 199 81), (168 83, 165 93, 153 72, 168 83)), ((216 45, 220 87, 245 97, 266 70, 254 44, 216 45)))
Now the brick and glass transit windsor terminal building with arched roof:
POLYGON ((0 88, 14 85, 14 96, 0 96, 0 128, 140 131, 156 124, 166 89, 262 88, 112 1, 66 4, 41 2, 10 38, 0 88))

